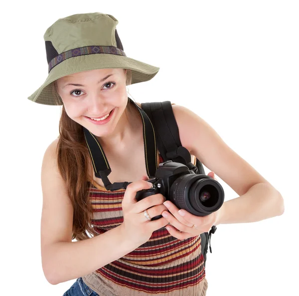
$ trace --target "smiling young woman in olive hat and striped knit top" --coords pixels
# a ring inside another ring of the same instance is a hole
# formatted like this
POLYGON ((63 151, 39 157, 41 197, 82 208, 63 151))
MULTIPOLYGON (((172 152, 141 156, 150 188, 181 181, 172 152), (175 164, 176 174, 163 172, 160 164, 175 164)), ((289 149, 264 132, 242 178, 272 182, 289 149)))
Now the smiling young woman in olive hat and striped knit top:
POLYGON ((179 211, 161 194, 135 199, 151 183, 141 104, 129 100, 126 86, 150 80, 159 68, 126 56, 117 23, 110 14, 74 14, 44 34, 49 74, 28 99, 62 105, 62 114, 60 136, 42 163, 43 271, 53 285, 77 279, 65 296, 204 296, 200 234, 221 223, 281 215, 283 198, 204 120, 173 104, 192 161, 199 159, 240 197, 204 217, 179 211), (84 128, 105 152, 109 181, 132 182, 126 189, 107 190, 95 176, 84 128), (157 215, 163 217, 151 220, 157 215))

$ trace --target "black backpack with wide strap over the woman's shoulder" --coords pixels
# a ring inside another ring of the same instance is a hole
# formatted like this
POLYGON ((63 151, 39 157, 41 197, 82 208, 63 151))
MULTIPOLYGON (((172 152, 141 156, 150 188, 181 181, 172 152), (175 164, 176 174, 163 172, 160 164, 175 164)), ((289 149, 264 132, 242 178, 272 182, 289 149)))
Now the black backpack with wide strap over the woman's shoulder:
MULTIPOLYGON (((153 128, 156 131, 156 145, 163 161, 172 160, 173 162, 179 162, 187 165, 189 169, 192 169, 196 174, 205 175, 202 163, 196 158, 196 165, 194 166, 191 163, 190 152, 183 147, 180 142, 178 126, 173 114, 171 102, 163 101, 142 103, 141 108, 149 116, 153 128)), ((205 232, 200 235, 204 266, 206 263, 206 254, 208 252, 209 242, 210 253, 212 253, 211 236, 215 233, 216 229, 216 226, 212 226, 209 233, 205 232)))

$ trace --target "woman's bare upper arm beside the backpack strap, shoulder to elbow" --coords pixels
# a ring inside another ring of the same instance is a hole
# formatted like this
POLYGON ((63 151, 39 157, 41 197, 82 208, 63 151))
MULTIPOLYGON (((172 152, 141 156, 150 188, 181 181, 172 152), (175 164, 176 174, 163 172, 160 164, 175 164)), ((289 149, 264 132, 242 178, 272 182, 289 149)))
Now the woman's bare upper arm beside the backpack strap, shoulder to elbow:
POLYGON ((186 107, 172 105, 181 143, 239 195, 257 183, 268 183, 230 148, 215 129, 186 107))

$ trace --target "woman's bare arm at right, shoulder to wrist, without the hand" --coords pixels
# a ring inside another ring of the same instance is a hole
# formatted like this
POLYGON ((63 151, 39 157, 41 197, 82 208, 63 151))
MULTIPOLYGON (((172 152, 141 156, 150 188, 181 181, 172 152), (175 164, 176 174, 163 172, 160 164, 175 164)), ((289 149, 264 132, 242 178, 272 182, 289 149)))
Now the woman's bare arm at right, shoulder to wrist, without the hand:
POLYGON ((233 151, 207 122, 185 107, 173 105, 172 109, 182 146, 239 195, 223 203, 218 224, 254 222, 284 213, 281 193, 233 151))

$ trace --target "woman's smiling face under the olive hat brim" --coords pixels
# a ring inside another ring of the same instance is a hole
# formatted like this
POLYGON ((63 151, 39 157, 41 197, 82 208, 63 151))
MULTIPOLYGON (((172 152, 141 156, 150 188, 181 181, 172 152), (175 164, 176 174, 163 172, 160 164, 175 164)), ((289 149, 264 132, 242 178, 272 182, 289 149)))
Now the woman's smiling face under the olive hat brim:
POLYGON ((57 87, 67 115, 98 137, 113 132, 128 102, 121 68, 77 72, 57 79, 57 87))

